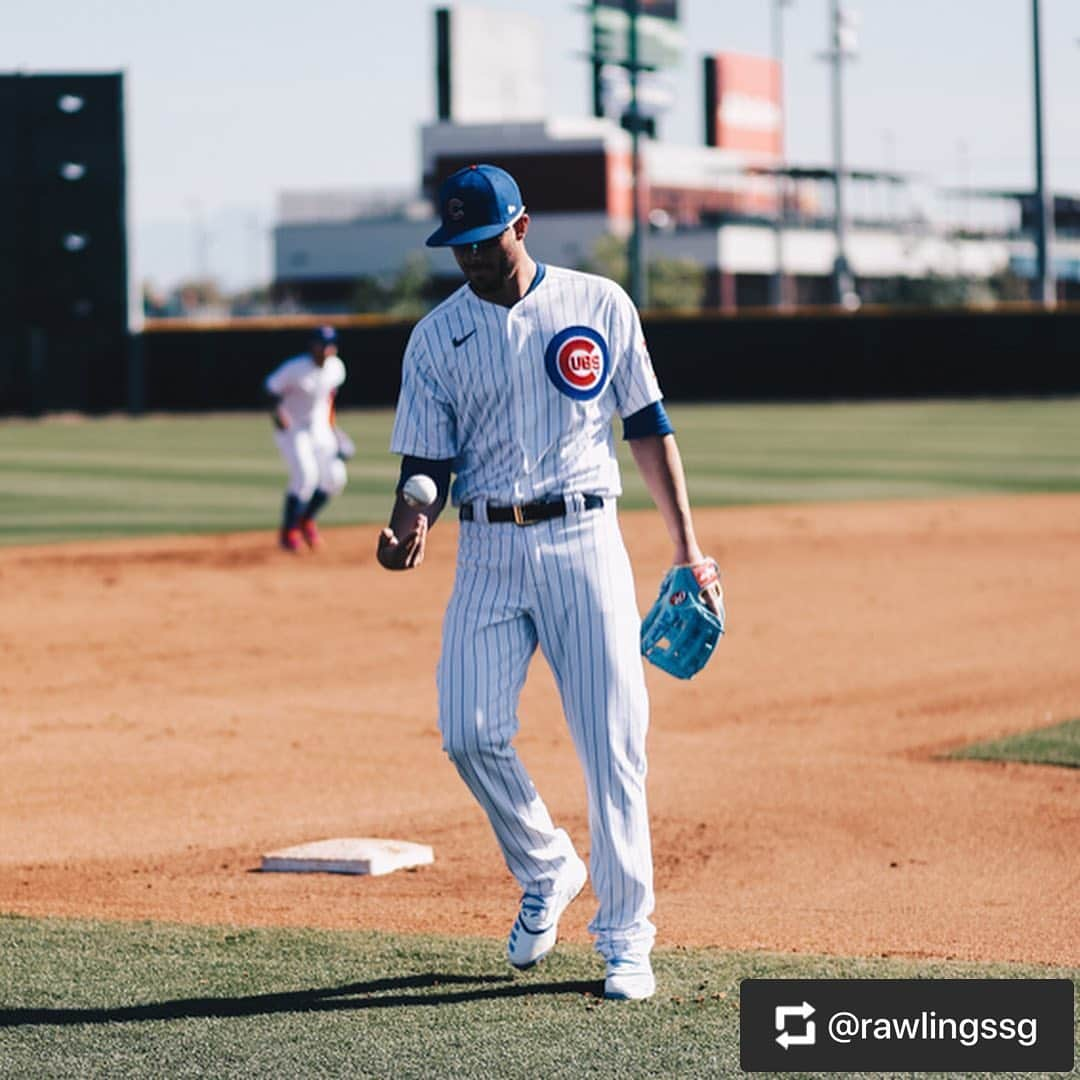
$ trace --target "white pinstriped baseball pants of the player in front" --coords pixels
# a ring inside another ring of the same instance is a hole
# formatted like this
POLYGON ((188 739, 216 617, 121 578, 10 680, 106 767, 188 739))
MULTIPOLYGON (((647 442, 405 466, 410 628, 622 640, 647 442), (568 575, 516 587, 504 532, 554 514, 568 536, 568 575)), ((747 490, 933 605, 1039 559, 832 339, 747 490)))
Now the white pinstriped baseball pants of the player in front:
POLYGON ((615 500, 521 527, 462 522, 438 663, 443 747, 486 811, 522 889, 552 892, 575 859, 511 742, 539 644, 555 675, 589 797, 590 923, 611 959, 656 929, 646 805, 648 694, 640 616, 615 500))

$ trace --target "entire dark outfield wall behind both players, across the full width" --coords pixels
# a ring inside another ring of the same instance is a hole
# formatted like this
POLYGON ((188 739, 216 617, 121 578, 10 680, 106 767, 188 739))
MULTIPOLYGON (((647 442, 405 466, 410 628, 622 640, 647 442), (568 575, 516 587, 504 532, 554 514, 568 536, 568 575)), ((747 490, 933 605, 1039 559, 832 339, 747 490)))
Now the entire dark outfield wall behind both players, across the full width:
MULTIPOLYGON (((127 357, 83 373, 78 386, 59 350, 54 364, 48 348, 38 349, 30 379, 11 359, 19 351, 0 349, 8 356, 0 362, 0 414, 261 408, 262 380, 302 351, 314 324, 160 321, 132 339, 127 357), (38 388, 32 394, 30 386, 38 388)), ((411 323, 353 316, 336 325, 349 370, 341 407, 392 405, 411 323)), ((645 330, 672 401, 1080 393, 1076 305, 1052 313, 1023 307, 653 316, 645 330)))

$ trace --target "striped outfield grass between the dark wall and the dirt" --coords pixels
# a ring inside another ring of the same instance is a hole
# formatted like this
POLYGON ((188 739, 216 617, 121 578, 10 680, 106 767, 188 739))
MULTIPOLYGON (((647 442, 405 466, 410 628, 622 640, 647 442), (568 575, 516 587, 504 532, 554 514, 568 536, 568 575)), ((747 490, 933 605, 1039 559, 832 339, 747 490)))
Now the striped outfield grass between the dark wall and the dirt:
MULTIPOLYGON (((1080 491, 1080 399, 673 405, 696 505, 1080 491)), ((390 410, 326 523, 386 519, 390 410)), ((650 504, 619 442, 627 509, 650 504)), ((0 543, 273 528, 284 471, 261 414, 0 422, 0 543)))

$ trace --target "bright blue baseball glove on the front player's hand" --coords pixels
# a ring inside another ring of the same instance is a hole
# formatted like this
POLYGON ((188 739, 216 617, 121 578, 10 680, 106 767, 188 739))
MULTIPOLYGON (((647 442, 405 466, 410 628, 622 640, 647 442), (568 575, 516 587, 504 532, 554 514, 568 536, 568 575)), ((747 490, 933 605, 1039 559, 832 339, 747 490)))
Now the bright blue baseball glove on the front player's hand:
POLYGON ((716 561, 672 567, 642 622, 642 656, 676 678, 693 678, 723 634, 724 591, 716 561), (705 604, 706 595, 716 598, 718 615, 705 604))

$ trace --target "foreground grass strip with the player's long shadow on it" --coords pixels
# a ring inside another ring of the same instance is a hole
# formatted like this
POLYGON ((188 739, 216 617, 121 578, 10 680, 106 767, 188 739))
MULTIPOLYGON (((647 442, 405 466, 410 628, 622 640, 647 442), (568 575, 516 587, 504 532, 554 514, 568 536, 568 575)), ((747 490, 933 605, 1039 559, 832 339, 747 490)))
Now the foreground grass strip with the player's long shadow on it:
POLYGON ((619 1003, 582 946, 515 975, 498 942, 14 917, 0 955, 4 1078, 729 1077, 746 977, 1080 976, 661 949, 619 1003))

